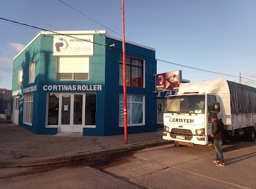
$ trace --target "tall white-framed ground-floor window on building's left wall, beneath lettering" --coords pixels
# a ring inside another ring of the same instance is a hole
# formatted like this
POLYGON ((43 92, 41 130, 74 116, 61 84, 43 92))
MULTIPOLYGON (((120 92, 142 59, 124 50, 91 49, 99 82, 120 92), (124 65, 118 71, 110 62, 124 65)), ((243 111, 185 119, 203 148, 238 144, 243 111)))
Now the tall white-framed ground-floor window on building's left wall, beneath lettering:
POLYGON ((32 125, 33 121, 33 94, 24 95, 23 122, 32 125))

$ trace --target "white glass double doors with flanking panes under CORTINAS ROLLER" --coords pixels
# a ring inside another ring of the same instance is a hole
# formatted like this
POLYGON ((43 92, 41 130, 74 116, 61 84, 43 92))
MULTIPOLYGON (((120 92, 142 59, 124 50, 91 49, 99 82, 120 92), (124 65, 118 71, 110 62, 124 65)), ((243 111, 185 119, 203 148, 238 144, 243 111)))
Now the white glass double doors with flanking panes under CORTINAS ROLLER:
POLYGON ((52 128, 58 125, 95 127, 96 93, 48 93, 46 121, 52 128))

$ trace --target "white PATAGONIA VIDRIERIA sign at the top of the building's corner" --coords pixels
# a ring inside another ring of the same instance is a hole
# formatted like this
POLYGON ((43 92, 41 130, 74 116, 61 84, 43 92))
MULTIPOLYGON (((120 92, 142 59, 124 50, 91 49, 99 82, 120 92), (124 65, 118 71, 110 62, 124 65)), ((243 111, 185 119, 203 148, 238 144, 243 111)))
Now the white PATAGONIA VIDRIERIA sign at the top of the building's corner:
POLYGON ((53 56, 93 56, 93 35, 53 37, 53 56))

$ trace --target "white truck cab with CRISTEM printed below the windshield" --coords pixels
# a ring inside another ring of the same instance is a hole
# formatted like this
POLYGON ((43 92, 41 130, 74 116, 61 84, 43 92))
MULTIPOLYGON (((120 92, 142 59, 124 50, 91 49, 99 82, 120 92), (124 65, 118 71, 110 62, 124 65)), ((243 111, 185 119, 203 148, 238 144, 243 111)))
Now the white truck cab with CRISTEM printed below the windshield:
POLYGON ((216 94, 186 93, 168 96, 164 111, 163 139, 183 144, 207 145, 211 135, 211 114, 220 112, 220 97, 216 94))

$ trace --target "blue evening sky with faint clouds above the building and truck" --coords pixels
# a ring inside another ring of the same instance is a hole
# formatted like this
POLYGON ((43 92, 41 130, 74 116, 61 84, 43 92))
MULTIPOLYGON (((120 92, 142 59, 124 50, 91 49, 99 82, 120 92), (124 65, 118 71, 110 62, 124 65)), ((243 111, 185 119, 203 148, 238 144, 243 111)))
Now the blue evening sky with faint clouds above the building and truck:
MULTIPOLYGON (((255 0, 125 0, 125 38, 156 49, 157 73, 191 82, 225 78, 256 87, 255 0)), ((12 64, 40 29, 106 30, 122 39, 122 0, 1 0, 0 88, 12 89, 12 64), (68 6, 67 6, 68 5, 68 6)))

